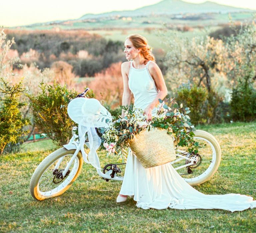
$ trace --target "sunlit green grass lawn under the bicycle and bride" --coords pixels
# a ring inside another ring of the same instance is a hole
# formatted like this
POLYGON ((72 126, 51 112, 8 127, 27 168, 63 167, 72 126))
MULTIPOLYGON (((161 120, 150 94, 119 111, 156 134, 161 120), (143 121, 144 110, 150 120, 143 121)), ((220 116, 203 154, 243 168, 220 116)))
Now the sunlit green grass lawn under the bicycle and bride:
MULTIPOLYGON (((197 128, 218 139, 222 160, 215 175, 195 188, 205 194, 241 193, 255 199, 256 121, 197 128)), ((0 232, 256 231, 256 209, 233 213, 219 209, 143 210, 131 198, 117 204, 121 182, 102 180, 85 163, 76 182, 65 193, 36 201, 29 193, 29 181, 53 144, 50 140, 35 144, 27 147, 27 152, 0 157, 0 232), (41 150, 29 151, 37 148, 41 150)), ((114 157, 106 158, 104 152, 99 156, 102 167, 116 161, 114 157)))

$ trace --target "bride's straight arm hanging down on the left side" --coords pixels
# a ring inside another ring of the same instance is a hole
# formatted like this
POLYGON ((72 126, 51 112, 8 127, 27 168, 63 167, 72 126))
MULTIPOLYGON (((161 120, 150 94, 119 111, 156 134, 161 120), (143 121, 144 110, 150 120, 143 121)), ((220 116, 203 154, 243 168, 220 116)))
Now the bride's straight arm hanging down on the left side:
MULTIPOLYGON (((128 73, 130 68, 130 62, 124 62, 121 65, 121 72, 123 77, 123 85, 124 85, 124 92, 123 92, 123 99, 122 105, 129 109, 130 102, 131 102, 131 90, 128 86, 128 73)), ((127 109, 127 110, 128 110, 127 109)), ((125 110, 122 110, 122 115, 125 116, 125 110)))

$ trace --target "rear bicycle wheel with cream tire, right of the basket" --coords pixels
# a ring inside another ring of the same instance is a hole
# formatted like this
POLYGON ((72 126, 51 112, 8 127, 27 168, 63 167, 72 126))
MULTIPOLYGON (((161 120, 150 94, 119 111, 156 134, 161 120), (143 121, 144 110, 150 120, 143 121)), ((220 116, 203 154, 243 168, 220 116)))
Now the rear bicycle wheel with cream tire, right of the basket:
MULTIPOLYGON (((180 166, 189 163, 188 160, 181 159, 176 163, 172 162, 173 167, 190 185, 202 184, 209 180, 217 171, 221 160, 221 149, 216 138, 203 130, 196 130, 194 133, 195 141, 199 142, 201 145, 198 150, 198 155, 195 156, 195 164, 179 168, 180 166)), ((180 153, 181 155, 188 155, 185 147, 178 147, 178 149, 185 152, 180 153)), ((191 156, 193 155, 188 155, 187 157, 191 156)))

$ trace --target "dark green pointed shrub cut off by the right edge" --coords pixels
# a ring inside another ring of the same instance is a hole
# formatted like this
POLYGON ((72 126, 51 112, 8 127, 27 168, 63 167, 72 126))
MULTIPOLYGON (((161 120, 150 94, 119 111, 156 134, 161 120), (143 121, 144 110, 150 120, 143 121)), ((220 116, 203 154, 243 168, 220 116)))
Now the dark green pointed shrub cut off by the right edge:
POLYGON ((253 72, 247 71, 233 88, 231 115, 233 120, 251 121, 256 118, 256 89, 253 87, 253 72))

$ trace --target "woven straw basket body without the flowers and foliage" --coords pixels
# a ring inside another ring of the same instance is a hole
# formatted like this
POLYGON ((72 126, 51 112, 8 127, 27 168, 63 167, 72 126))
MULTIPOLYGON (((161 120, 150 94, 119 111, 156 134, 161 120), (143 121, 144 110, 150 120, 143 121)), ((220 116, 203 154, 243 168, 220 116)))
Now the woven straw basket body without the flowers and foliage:
POLYGON ((166 129, 143 130, 130 140, 130 148, 144 168, 159 166, 176 159, 173 135, 166 129))

